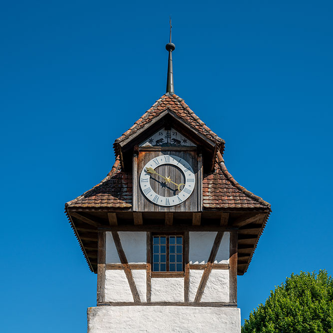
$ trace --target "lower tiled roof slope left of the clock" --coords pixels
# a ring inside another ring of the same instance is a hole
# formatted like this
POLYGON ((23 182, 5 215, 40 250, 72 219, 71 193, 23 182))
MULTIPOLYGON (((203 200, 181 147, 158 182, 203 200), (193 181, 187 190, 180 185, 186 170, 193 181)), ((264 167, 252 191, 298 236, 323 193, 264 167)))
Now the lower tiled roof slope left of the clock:
POLYGON ((132 174, 121 171, 119 156, 108 175, 91 190, 66 203, 75 208, 132 207, 132 174))

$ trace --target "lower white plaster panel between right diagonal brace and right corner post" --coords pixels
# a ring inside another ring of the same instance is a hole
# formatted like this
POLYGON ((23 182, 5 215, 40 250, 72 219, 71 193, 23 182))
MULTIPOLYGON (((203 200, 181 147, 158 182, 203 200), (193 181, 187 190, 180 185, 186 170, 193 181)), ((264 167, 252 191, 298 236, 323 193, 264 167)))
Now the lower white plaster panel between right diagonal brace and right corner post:
POLYGON ((201 302, 229 302, 229 270, 212 270, 201 302))

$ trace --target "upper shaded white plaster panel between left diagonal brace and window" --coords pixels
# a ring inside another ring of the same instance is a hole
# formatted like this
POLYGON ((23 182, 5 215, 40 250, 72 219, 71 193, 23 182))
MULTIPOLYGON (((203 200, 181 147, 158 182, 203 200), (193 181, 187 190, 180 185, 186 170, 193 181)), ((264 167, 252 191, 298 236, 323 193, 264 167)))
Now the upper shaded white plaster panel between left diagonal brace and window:
POLYGON ((121 246, 129 264, 146 264, 147 233, 136 231, 119 231, 121 246))

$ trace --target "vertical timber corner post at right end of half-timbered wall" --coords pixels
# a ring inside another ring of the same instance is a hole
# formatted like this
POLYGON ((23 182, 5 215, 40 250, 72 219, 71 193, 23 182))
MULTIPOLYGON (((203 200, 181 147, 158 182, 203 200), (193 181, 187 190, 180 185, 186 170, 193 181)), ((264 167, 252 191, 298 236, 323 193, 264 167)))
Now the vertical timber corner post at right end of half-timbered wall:
POLYGON ((229 247, 229 303, 237 303, 237 231, 230 233, 229 247))

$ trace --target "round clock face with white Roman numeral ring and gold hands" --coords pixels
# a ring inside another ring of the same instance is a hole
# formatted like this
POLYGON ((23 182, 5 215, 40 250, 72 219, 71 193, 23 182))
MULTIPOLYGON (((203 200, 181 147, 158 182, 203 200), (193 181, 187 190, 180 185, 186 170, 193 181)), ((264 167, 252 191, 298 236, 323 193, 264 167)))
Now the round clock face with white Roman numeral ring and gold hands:
POLYGON ((151 159, 140 174, 140 188, 152 203, 171 207, 190 197, 195 187, 195 174, 191 165, 173 155, 151 159))

